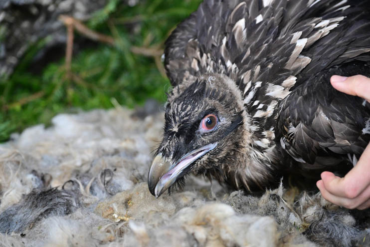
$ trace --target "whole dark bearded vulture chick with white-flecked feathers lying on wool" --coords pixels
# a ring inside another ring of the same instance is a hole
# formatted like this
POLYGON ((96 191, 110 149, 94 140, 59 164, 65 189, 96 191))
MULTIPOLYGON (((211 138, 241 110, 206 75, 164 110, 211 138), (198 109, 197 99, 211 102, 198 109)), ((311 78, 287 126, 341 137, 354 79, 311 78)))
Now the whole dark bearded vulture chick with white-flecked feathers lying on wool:
POLYGON ((370 103, 334 74, 370 76, 368 0, 204 0, 166 41, 173 85, 149 174, 261 190, 283 171, 345 174, 370 141, 370 103))

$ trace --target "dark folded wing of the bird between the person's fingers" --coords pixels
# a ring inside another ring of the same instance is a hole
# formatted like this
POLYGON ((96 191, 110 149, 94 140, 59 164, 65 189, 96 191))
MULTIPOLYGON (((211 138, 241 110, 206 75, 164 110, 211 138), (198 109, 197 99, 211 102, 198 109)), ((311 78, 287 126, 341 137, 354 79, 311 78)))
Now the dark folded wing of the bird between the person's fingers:
MULTIPOLYGON (((370 58, 370 57, 369 57, 370 58)), ((370 60, 370 59, 369 59, 370 60)), ((357 159, 370 141, 370 103, 335 90, 334 73, 370 76, 370 62, 351 62, 310 77, 279 105, 276 141, 308 168, 357 159)))

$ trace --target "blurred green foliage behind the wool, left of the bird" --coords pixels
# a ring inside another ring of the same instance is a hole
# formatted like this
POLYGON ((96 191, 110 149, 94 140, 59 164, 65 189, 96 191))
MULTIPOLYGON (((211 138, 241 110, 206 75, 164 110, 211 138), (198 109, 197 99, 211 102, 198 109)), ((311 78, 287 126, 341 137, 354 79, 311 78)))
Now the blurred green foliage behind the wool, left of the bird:
POLYGON ((159 55, 156 65, 154 57, 135 54, 131 48, 162 50, 171 30, 200 1, 140 0, 128 6, 122 0, 109 0, 85 24, 113 36, 115 45, 97 42, 74 54, 72 78, 67 76, 64 59, 48 63, 41 74, 32 73, 32 59, 48 37, 32 44, 13 74, 0 80, 0 141, 27 126, 48 124, 60 112, 110 108, 112 99, 128 107, 147 98, 165 101, 170 84, 159 71, 159 55))

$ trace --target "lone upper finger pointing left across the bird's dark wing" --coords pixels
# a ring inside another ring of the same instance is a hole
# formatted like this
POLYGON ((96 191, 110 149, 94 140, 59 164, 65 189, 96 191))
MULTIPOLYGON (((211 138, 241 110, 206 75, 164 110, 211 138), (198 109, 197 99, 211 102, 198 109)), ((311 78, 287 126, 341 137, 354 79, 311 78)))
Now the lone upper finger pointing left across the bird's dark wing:
POLYGON ((333 87, 338 91, 362 97, 370 101, 370 78, 363 75, 350 77, 333 75, 330 78, 333 87))

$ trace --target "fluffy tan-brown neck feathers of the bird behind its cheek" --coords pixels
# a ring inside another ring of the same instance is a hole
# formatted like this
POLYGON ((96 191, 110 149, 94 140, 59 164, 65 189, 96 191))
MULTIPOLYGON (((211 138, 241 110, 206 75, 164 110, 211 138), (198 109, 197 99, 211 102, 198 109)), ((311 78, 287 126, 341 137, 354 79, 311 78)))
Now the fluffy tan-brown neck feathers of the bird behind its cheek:
MULTIPOLYGON (((257 130, 254 128, 252 123, 252 117, 248 114, 248 110, 244 105, 244 99, 242 92, 236 85, 235 81, 224 77, 222 83, 223 88, 227 88, 232 94, 232 97, 236 101, 236 111, 242 111, 243 125, 239 127, 239 131, 236 136, 233 137, 233 147, 230 148, 228 157, 233 159, 227 160, 230 164, 230 169, 226 169, 225 177, 227 181, 232 183, 232 186, 237 189, 247 189, 249 191, 260 190, 265 188, 275 178, 274 172, 276 171, 273 164, 279 163, 275 160, 277 157, 277 150, 275 145, 269 148, 261 148, 262 145, 259 142, 264 141, 257 134, 257 130), (235 142, 235 140, 237 140, 235 142)), ((262 131, 259 129, 259 131, 262 131)), ((266 135, 270 134, 271 138, 269 141, 274 142, 274 133, 272 130, 263 130, 266 135)))

